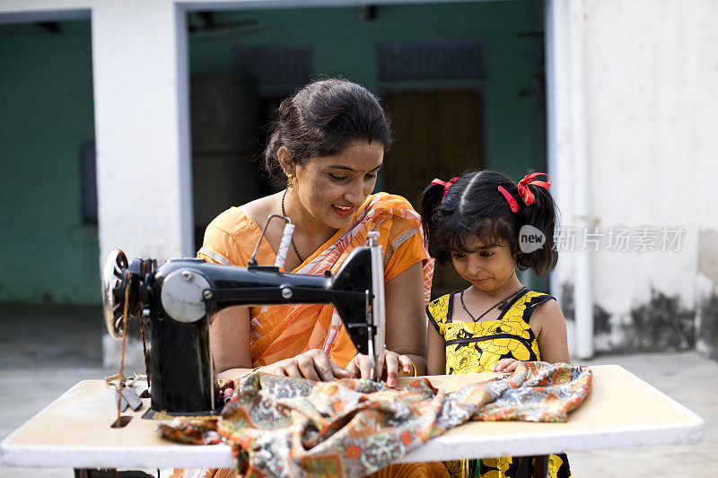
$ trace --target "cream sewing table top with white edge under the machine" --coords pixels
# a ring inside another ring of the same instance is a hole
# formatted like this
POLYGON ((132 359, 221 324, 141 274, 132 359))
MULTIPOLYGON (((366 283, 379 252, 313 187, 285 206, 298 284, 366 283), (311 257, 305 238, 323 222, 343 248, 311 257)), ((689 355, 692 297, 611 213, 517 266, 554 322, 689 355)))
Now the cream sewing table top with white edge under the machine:
MULTIPOLYGON (((549 453, 696 443, 703 420, 683 405, 617 365, 591 367, 591 394, 565 423, 468 422, 429 440, 402 461, 549 453)), ((498 374, 430 378, 453 390, 498 374)), ((398 387, 407 383, 399 378, 398 387)), ((226 445, 183 445, 161 439, 156 422, 142 420, 144 400, 125 428, 117 416, 114 388, 102 380, 78 383, 0 443, 8 466, 147 469, 234 466, 226 445)))

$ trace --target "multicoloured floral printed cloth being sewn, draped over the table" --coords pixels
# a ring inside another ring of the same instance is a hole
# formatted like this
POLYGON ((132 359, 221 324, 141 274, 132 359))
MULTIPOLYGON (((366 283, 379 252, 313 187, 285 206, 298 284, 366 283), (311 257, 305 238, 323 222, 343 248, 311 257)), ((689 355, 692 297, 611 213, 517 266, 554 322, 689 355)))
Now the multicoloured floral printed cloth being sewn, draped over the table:
POLYGON ((254 373, 222 414, 162 422, 162 436, 225 442, 248 476, 363 476, 468 420, 565 422, 591 389, 591 369, 533 361, 451 393, 416 378, 402 390, 368 379, 314 382, 254 373))

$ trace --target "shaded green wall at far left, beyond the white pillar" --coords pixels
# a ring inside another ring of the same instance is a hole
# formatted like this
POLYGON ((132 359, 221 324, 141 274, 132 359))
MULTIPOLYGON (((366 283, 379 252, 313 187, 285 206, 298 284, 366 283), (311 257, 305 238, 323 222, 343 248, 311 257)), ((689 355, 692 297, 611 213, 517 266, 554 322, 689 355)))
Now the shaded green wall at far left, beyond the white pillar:
POLYGON ((96 225, 80 213, 94 137, 90 22, 0 25, 0 302, 100 301, 96 225))

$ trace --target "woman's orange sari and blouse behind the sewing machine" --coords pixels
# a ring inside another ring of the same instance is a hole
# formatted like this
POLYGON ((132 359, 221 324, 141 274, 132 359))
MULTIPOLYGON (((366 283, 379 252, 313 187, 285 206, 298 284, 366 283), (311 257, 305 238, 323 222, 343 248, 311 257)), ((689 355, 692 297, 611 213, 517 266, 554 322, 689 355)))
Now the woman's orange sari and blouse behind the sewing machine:
MULTIPOLYGON (((418 261, 424 264, 425 303, 430 299, 433 259, 421 232, 421 219, 401 196, 379 193, 368 196, 352 223, 337 230, 326 243, 292 272, 321 275, 336 272, 353 248, 368 243, 376 230, 384 252, 384 281, 401 274, 418 261)), ((197 254, 207 262, 247 265, 261 237, 261 228, 249 213, 232 207, 207 226, 203 247, 197 254)), ((274 264, 276 255, 266 239, 258 249, 259 264, 274 264)), ((322 349, 345 367, 356 350, 341 319, 328 304, 292 304, 250 308, 250 352, 253 367, 322 349)))

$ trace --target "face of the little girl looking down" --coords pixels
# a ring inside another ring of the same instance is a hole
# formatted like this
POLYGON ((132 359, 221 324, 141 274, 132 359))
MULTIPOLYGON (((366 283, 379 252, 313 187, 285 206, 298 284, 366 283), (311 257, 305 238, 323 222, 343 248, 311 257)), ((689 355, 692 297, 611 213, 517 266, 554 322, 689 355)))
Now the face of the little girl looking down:
POLYGON ((508 244, 487 245, 475 239, 468 246, 471 252, 451 250, 451 261, 461 277, 488 293, 515 287, 516 258, 508 244))

